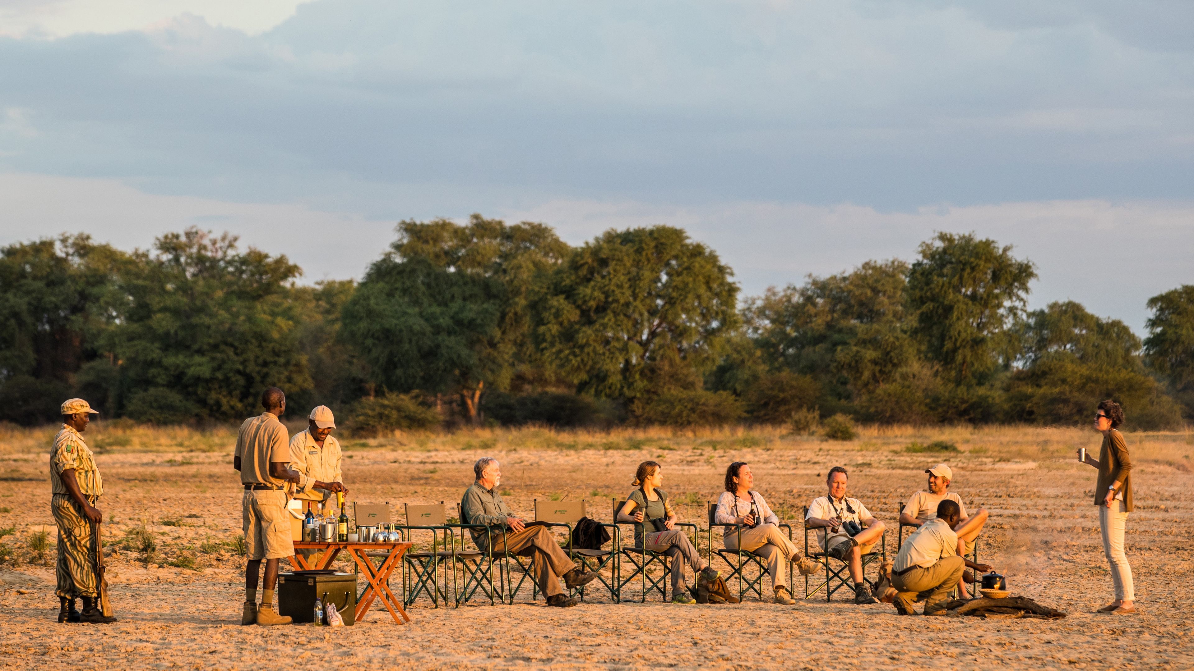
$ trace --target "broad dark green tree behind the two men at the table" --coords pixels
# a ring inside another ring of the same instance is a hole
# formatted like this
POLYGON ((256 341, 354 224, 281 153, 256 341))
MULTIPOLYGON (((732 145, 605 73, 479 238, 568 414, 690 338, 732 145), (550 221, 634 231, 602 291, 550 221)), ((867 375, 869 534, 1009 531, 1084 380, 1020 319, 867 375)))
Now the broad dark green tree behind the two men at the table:
POLYGON ((291 300, 298 266, 197 228, 162 235, 134 259, 121 321, 105 334, 134 414, 238 419, 260 410, 265 387, 310 388, 291 300))

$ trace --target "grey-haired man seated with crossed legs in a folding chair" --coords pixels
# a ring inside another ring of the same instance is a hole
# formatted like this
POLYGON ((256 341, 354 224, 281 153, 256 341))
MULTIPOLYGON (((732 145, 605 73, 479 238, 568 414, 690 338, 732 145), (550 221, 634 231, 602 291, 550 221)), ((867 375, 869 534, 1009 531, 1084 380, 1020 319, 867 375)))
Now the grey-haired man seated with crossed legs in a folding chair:
POLYGON ((501 468, 498 460, 481 457, 473 464, 476 480, 464 490, 460 501, 461 524, 488 524, 493 528, 493 542, 490 544, 485 529, 469 529, 473 542, 481 550, 488 548, 494 555, 510 552, 519 556, 531 558, 531 572, 540 591, 547 595, 547 605, 568 608, 579 601, 568 598, 560 589, 559 578, 570 590, 592 583, 598 573, 581 573, 568 559, 568 554, 552 538, 547 527, 527 527, 527 523, 510 513, 510 507, 498 493, 501 482, 501 468))

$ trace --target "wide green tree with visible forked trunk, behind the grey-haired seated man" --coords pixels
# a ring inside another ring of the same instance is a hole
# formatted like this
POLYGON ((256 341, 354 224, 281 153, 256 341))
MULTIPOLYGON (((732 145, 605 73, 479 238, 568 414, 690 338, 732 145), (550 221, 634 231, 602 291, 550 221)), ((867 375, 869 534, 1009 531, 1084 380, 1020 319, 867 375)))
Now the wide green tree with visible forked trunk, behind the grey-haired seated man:
POLYGON ((344 308, 344 334, 388 389, 457 394, 480 419, 488 387, 544 377, 531 304, 567 245, 547 226, 473 215, 404 221, 344 308))

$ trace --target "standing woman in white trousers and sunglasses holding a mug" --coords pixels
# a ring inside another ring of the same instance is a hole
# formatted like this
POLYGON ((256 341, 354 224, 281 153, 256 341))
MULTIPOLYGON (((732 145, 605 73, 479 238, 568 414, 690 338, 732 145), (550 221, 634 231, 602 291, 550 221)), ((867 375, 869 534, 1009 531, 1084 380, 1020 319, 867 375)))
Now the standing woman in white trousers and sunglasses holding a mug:
MULTIPOLYGON (((1115 584, 1115 601, 1098 609, 1098 612, 1127 615, 1135 612, 1132 599, 1132 567, 1124 553, 1124 528, 1127 513, 1132 512, 1132 458, 1127 443, 1116 427, 1124 423, 1124 408, 1115 401, 1102 401, 1095 413, 1095 429, 1103 435, 1098 460, 1085 457, 1085 463, 1098 469, 1095 485, 1095 505, 1098 506, 1098 525, 1103 534, 1103 553, 1112 568, 1115 584)), ((1082 451, 1078 453, 1079 456, 1082 451)))

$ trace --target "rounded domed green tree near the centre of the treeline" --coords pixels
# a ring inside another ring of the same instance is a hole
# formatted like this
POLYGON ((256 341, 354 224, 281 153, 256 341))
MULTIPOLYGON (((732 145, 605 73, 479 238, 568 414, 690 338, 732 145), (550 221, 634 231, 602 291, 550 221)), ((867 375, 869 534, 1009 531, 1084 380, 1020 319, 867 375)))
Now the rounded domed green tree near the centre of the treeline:
POLYGON ((581 393, 632 400, 700 387, 739 324, 732 275, 679 228, 609 230, 554 273, 538 341, 581 393))

